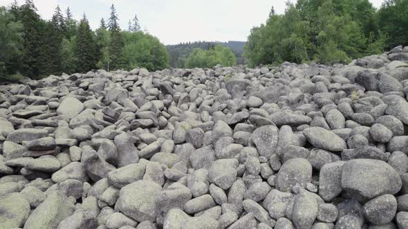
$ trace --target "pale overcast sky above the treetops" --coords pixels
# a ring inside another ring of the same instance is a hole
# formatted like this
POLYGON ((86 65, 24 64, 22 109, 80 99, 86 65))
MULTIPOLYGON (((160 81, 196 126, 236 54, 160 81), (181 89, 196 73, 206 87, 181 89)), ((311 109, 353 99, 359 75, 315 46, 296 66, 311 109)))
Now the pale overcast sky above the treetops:
MULTIPOLYGON (((0 0, 8 6, 13 0, 0 0)), ((380 7, 383 0, 370 0, 380 7)), ((265 23, 270 7, 284 12, 286 0, 34 0, 39 14, 51 19, 57 4, 71 8, 75 19, 84 13, 93 29, 102 17, 109 18, 115 4, 122 29, 138 14, 142 30, 147 28, 165 44, 186 41, 246 41, 250 28, 265 23)), ((295 2, 295 1, 293 1, 295 2)), ((24 3, 24 0, 19 0, 24 3)))

